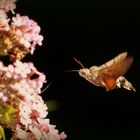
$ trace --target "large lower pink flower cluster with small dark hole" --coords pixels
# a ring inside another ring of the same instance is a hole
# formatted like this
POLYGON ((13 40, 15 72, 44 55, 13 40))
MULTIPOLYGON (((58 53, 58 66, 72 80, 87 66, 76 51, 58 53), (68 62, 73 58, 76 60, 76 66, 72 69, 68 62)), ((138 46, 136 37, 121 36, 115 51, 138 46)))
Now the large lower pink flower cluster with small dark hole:
POLYGON ((39 95, 46 82, 45 75, 33 63, 21 61, 7 67, 0 62, 0 74, 0 122, 12 129, 13 138, 64 139, 65 134, 59 135, 46 118, 47 106, 39 95))

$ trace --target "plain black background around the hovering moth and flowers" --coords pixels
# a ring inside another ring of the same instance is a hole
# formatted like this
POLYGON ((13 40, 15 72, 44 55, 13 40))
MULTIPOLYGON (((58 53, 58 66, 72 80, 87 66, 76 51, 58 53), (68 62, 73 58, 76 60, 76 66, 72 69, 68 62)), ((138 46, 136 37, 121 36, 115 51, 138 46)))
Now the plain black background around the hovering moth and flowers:
POLYGON ((140 138, 140 3, 19 0, 16 12, 28 15, 41 26, 43 45, 24 61, 33 61, 46 74, 48 83, 54 80, 42 93, 44 100, 59 105, 49 112, 51 123, 65 131, 68 140, 140 138), (136 93, 125 89, 105 92, 77 73, 61 72, 80 68, 74 57, 89 68, 123 51, 134 56, 125 76, 136 93))

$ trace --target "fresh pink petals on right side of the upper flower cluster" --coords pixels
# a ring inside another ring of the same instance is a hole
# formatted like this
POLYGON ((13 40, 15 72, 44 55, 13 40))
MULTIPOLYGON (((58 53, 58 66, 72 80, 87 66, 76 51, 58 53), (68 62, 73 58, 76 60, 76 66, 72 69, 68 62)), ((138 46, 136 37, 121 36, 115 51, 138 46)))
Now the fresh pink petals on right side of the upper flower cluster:
POLYGON ((37 44, 42 45, 43 36, 39 35, 41 29, 28 16, 17 14, 16 17, 12 18, 11 25, 16 29, 16 35, 21 38, 20 43, 31 49, 31 54, 33 54, 37 44))

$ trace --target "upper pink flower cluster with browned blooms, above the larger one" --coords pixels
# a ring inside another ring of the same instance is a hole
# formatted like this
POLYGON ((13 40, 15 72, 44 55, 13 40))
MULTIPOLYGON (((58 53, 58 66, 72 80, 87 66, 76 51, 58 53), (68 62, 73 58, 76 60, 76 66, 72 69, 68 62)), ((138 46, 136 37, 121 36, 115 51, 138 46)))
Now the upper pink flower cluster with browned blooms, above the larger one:
POLYGON ((8 19, 7 12, 14 10, 14 2, 0 1, 0 56, 9 56, 11 61, 33 54, 36 45, 41 46, 43 40, 40 27, 28 16, 16 14, 8 19))

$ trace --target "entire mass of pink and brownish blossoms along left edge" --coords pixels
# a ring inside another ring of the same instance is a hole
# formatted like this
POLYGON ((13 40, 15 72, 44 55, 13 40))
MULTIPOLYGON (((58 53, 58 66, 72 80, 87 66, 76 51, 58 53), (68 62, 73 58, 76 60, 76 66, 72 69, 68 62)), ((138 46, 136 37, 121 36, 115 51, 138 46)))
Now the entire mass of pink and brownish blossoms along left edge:
MULTIPOLYGON (((38 24, 28 16, 8 18, 16 0, 0 0, 0 56, 9 56, 12 64, 0 61, 0 124, 10 128, 13 140, 63 140, 47 118, 47 106, 40 96, 46 77, 32 62, 21 62, 36 45, 42 45, 38 24)), ((2 137, 0 127, 0 138, 2 137)), ((3 136, 3 139, 4 136, 3 136)))

